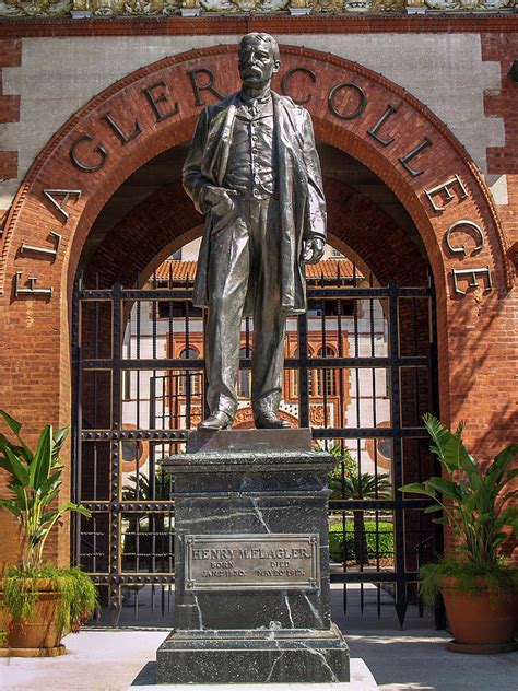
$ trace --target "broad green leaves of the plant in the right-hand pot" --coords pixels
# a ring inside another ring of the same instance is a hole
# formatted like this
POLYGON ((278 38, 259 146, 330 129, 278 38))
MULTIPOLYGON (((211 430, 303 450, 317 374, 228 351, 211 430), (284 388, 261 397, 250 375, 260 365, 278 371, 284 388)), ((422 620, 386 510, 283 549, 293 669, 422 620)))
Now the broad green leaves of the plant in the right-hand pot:
POLYGON ((431 414, 423 420, 432 437, 431 450, 442 462, 445 477, 412 482, 400 491, 434 500, 435 504, 425 511, 442 512, 435 522, 449 526, 459 538, 460 562, 467 573, 502 571, 498 549, 508 537, 504 528, 510 527, 518 537, 518 506, 511 503, 518 490, 509 488, 518 476, 518 469, 511 468, 518 444, 495 456, 484 471, 463 445, 462 422, 451 433, 431 414))

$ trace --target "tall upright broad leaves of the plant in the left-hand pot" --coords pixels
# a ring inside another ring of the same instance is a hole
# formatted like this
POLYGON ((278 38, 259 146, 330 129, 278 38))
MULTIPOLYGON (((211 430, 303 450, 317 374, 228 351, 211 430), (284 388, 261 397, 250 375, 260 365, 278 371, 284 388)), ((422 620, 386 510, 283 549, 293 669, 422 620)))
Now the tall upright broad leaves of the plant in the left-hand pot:
POLYGON ((68 429, 52 431, 50 425, 46 425, 33 453, 20 436, 21 423, 3 410, 0 410, 0 415, 17 442, 12 443, 0 434, 0 468, 10 476, 8 490, 11 493, 7 499, 0 499, 0 507, 10 512, 25 532, 23 569, 37 569, 42 564, 45 542, 63 514, 69 511, 87 517, 91 514, 72 502, 55 505, 62 484, 63 466, 59 462, 59 453, 68 429))

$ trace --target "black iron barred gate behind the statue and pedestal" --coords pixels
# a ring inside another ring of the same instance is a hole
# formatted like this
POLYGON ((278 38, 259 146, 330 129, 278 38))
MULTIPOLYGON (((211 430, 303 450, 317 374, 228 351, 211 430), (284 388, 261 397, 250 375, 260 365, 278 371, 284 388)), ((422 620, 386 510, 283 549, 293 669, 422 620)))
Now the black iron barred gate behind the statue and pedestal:
MULTIPOLYGON (((170 624, 174 501, 160 459, 184 448, 203 406, 203 315, 192 281, 161 268, 142 289, 86 290, 73 308, 75 563, 101 586, 111 623, 170 624)), ((435 412, 431 288, 362 288, 356 269, 309 280, 307 315, 289 319, 281 414, 337 456, 330 482, 331 581, 393 596, 400 622, 419 564, 440 535, 403 496, 434 475, 422 415, 435 412)), ((345 266, 345 265, 343 265, 345 266)), ((254 325, 243 324, 236 423, 247 407, 254 325)))

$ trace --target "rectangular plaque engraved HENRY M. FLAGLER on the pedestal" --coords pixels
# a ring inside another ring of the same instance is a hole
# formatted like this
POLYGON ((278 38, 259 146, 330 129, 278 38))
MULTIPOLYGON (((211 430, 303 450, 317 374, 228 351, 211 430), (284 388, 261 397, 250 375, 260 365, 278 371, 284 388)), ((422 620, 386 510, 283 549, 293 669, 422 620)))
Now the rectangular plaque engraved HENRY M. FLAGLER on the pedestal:
POLYGON ((318 535, 186 535, 186 590, 317 590, 318 535))

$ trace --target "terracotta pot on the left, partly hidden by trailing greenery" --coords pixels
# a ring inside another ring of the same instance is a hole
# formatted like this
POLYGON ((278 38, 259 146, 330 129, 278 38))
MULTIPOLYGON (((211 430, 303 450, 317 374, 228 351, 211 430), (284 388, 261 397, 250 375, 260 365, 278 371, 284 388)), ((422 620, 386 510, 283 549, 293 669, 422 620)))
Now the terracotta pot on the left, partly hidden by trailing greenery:
POLYGON ((14 656, 54 656, 64 652, 60 645, 62 626, 58 623, 59 593, 49 578, 36 582, 38 595, 28 621, 13 623, 8 634, 10 653, 14 656))

